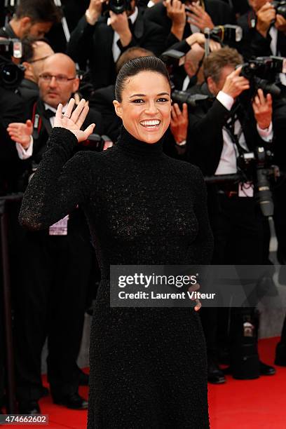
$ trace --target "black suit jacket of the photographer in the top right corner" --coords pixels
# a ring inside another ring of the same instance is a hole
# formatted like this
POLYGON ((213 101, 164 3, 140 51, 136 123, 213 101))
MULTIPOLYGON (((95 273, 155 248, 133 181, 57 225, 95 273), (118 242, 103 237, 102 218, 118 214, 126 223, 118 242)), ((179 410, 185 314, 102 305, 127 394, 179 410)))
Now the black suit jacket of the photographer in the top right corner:
MULTIPOLYGON (((238 43, 237 48, 245 60, 249 60, 253 56, 273 55, 270 48, 271 36, 261 36, 255 28, 256 15, 254 11, 248 11, 240 16, 238 18, 238 25, 243 29, 243 39, 238 43)), ((278 32, 277 49, 282 57, 286 55, 286 36, 282 32, 278 32)))

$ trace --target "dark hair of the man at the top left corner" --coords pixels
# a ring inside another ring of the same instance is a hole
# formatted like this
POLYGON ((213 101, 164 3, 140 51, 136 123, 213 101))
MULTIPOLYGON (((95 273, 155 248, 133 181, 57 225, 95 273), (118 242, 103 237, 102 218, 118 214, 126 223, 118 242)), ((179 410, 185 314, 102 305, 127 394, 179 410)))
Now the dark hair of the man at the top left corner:
POLYGON ((60 22, 60 9, 53 0, 21 0, 15 12, 16 20, 24 17, 32 22, 60 22))

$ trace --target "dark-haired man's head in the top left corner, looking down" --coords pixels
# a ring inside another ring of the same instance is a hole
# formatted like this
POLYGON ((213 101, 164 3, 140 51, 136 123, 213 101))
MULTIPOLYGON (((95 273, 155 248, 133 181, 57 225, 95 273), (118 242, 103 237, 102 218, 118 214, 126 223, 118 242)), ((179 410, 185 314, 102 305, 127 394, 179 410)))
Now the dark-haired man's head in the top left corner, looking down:
POLYGON ((60 15, 53 0, 21 0, 11 21, 0 29, 0 36, 23 39, 43 37, 60 15))

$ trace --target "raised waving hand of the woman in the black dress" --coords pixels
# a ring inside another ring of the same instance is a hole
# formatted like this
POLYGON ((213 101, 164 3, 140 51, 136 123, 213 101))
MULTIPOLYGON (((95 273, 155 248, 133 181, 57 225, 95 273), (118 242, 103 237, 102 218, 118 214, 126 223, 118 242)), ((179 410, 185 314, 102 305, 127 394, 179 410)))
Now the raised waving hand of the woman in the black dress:
POLYGON ((74 98, 71 98, 64 114, 62 114, 62 104, 58 105, 57 113, 55 114, 55 127, 62 127, 71 131, 80 143, 88 139, 95 128, 95 123, 90 124, 86 130, 81 131, 81 125, 83 125, 88 114, 88 103, 82 99, 76 109, 74 109, 74 104, 74 98))

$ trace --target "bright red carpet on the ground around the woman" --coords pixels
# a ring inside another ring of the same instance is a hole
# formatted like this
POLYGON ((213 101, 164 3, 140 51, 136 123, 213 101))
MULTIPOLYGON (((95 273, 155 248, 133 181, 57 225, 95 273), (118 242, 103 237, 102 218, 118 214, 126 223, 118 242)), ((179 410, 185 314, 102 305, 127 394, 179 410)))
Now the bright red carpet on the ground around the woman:
MULTIPOLYGON (((273 365, 277 342, 278 338, 259 341, 261 359, 269 365, 273 365)), ((286 429, 286 367, 276 369, 275 376, 262 376, 250 381, 238 381, 227 376, 226 384, 209 385, 211 428, 286 429)), ((46 379, 44 383, 46 385, 46 379)), ((81 388, 80 393, 87 397, 88 389, 81 388)), ((86 428, 86 411, 54 405, 50 397, 43 398, 40 405, 42 413, 49 415, 49 425, 25 425, 25 428, 86 428)))

